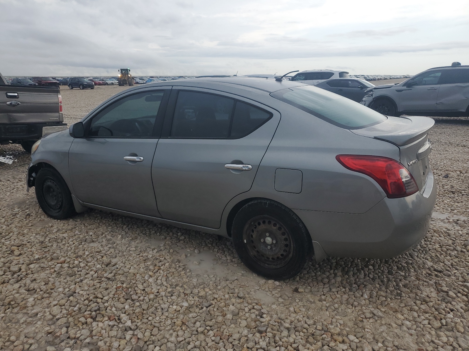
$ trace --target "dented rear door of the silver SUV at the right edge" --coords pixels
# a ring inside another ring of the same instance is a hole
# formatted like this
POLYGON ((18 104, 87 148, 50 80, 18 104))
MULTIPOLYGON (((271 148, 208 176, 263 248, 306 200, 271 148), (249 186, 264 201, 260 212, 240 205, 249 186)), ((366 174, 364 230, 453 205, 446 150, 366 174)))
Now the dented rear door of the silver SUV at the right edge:
POLYGON ((443 70, 439 80, 437 110, 465 112, 469 105, 469 68, 443 70))

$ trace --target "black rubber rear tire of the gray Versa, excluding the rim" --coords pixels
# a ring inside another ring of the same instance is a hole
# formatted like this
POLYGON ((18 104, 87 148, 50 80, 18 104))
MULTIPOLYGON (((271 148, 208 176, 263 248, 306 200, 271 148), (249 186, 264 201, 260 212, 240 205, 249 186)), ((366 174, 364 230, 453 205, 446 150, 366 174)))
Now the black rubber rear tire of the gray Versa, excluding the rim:
POLYGON ((294 212, 287 209, 285 206, 269 200, 255 200, 240 209, 234 217, 232 238, 234 249, 246 267, 266 278, 284 280, 295 277, 303 270, 312 256, 311 237, 306 227, 304 227, 303 222, 294 212), (245 225, 250 219, 259 215, 268 215, 279 220, 284 226, 287 226, 292 236, 291 249, 293 250, 293 254, 288 263, 283 267, 269 269, 260 266, 250 256, 246 244, 243 242, 245 225))

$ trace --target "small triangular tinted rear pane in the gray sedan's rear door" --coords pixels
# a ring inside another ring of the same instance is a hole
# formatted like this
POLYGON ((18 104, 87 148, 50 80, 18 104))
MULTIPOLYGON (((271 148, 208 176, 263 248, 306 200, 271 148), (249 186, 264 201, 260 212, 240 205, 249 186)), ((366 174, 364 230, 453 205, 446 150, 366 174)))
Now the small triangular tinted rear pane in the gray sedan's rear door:
POLYGON ((272 114, 267 111, 238 101, 234 109, 230 137, 242 138, 254 132, 271 117, 272 114))

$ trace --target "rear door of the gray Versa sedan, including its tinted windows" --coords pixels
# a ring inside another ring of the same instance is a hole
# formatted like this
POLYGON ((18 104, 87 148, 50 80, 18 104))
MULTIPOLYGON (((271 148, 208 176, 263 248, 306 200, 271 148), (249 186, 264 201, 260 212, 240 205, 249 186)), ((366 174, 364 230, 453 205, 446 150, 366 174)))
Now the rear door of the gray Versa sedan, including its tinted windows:
POLYGON ((280 114, 237 95, 173 88, 152 165, 165 219, 219 228, 223 209, 251 188, 280 114), (230 166, 231 165, 231 166, 230 166))

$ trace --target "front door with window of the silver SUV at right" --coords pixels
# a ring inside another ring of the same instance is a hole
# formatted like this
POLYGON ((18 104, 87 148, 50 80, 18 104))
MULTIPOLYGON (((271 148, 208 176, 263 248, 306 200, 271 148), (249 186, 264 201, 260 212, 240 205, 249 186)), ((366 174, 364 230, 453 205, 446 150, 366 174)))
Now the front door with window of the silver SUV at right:
POLYGON ((440 76, 441 70, 428 71, 409 80, 416 82, 416 85, 396 87, 399 111, 436 110, 440 76))

